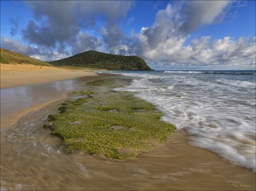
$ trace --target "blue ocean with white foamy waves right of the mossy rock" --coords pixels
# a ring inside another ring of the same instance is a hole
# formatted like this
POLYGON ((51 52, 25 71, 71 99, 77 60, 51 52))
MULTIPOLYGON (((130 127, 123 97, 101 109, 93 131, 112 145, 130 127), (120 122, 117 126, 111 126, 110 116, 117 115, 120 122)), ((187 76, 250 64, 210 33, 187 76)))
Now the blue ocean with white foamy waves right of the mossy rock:
POLYGON ((255 172, 255 71, 108 71, 184 129, 190 144, 255 172))

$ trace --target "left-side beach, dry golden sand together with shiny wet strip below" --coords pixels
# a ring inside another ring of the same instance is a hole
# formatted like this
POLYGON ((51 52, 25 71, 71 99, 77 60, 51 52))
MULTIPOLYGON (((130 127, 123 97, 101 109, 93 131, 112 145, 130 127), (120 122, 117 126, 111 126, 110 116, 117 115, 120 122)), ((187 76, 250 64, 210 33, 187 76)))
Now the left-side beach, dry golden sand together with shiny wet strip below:
POLYGON ((96 74, 76 68, 1 64, 1 128, 13 124, 28 112, 64 99, 69 92, 65 80, 82 76, 93 77, 96 74), (59 88, 51 89, 51 86, 59 88), (26 97, 28 91, 30 96, 26 97))

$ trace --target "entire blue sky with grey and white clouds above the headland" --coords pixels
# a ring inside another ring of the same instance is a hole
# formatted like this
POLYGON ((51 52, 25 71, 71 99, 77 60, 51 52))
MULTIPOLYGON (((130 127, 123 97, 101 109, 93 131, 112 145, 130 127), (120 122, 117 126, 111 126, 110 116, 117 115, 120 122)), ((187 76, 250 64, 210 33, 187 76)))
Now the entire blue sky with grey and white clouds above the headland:
POLYGON ((1 1, 1 48, 42 61, 97 50, 155 70, 255 70, 255 1, 1 1))

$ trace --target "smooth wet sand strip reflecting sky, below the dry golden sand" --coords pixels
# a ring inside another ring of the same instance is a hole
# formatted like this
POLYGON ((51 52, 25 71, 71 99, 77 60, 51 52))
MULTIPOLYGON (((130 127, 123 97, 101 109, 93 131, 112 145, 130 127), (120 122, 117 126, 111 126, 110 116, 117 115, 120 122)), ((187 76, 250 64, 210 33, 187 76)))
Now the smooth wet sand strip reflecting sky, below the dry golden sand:
POLYGON ((67 92, 81 88, 81 82, 108 76, 110 74, 100 74, 72 80, 1 89, 1 127, 14 123, 29 111, 40 109, 55 100, 64 99, 67 92))

